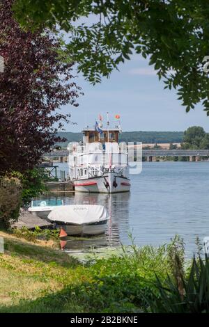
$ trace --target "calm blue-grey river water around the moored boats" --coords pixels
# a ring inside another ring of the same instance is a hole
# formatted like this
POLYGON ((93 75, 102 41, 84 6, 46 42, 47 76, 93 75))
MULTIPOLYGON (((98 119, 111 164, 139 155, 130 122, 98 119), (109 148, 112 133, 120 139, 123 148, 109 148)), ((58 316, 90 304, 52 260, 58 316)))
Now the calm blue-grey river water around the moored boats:
MULTIPOLYGON (((60 168, 68 169, 66 163, 60 168)), ((130 178, 130 193, 57 196, 65 204, 101 204, 111 214, 106 237, 69 240, 69 249, 130 244, 129 232, 135 244, 157 246, 178 233, 192 253, 196 237, 209 236, 209 162, 144 162, 142 173, 130 178)))

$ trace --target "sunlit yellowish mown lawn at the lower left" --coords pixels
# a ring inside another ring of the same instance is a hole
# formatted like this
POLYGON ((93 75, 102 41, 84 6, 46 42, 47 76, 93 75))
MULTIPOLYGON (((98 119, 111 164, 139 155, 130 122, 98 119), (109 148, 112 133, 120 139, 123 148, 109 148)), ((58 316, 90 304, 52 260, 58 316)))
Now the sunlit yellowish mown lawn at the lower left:
POLYGON ((0 235, 5 242, 5 253, 0 255, 1 312, 30 311, 30 303, 36 298, 53 294, 68 283, 88 280, 85 268, 65 253, 50 248, 50 242, 45 246, 44 241, 33 244, 10 234, 0 235), (25 307, 22 301, 28 305, 25 307))

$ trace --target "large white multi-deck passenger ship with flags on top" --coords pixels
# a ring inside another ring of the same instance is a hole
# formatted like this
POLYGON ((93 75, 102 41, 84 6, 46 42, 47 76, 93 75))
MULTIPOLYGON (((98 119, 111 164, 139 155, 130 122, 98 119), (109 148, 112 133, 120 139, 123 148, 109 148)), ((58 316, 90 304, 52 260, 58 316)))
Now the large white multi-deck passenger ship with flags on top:
MULTIPOLYGON (((116 115, 117 116, 117 115, 116 115)), ((128 153, 126 143, 118 144, 121 125, 103 129, 96 122, 95 128, 83 130, 82 143, 70 143, 69 176, 75 191, 118 193, 130 191, 128 153)))

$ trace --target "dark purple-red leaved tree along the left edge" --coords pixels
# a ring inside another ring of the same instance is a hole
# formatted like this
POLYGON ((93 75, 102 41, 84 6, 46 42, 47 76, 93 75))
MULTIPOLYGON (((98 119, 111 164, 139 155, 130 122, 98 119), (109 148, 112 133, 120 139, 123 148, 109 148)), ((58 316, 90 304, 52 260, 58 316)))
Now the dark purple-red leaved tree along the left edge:
POLYGON ((56 131, 70 116, 60 107, 77 106, 78 97, 62 41, 49 31, 20 29, 12 4, 0 3, 0 175, 33 168, 60 141, 56 131))

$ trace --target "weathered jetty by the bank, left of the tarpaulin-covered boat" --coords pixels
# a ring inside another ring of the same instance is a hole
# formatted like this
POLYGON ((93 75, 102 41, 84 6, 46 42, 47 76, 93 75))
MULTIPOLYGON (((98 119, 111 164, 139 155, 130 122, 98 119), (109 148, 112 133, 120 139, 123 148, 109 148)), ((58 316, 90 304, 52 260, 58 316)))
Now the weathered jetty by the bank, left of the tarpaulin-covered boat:
POLYGON ((18 221, 16 221, 12 227, 26 227, 29 230, 34 230, 36 226, 40 228, 52 228, 52 223, 49 223, 48 221, 45 221, 44 219, 41 219, 38 216, 34 216, 25 209, 20 209, 20 216, 18 218, 18 221))

